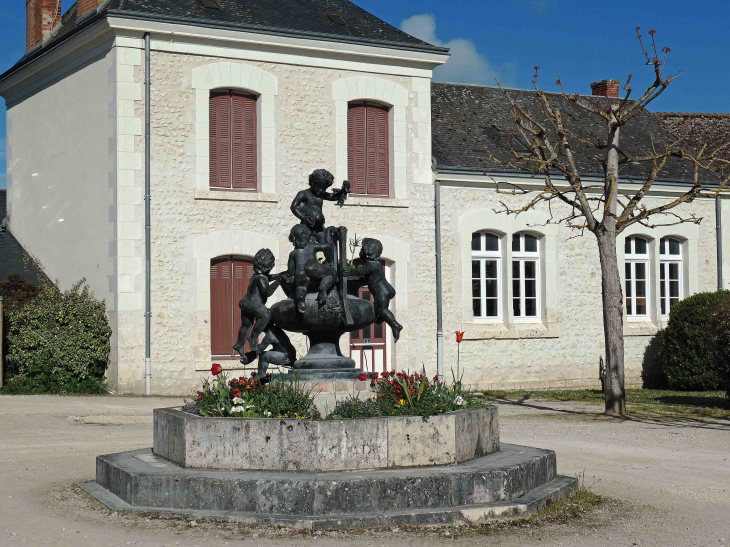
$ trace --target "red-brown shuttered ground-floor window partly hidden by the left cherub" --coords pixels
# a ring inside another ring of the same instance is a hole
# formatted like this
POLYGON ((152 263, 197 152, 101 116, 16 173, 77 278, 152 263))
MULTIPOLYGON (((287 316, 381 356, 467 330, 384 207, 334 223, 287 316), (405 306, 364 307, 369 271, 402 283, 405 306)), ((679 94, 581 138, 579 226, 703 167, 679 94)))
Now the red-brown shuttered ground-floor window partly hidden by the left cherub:
POLYGON ((238 355, 233 350, 241 328, 238 302, 246 294, 252 276, 253 264, 248 260, 223 257, 210 262, 210 353, 215 357, 238 355))

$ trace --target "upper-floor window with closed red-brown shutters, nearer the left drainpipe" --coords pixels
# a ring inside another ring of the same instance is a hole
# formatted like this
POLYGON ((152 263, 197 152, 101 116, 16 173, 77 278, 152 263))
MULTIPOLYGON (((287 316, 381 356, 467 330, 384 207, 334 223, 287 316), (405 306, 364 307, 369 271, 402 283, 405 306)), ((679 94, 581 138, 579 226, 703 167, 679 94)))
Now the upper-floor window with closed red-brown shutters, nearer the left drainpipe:
POLYGON ((256 98, 210 93, 210 186, 256 190, 256 98))

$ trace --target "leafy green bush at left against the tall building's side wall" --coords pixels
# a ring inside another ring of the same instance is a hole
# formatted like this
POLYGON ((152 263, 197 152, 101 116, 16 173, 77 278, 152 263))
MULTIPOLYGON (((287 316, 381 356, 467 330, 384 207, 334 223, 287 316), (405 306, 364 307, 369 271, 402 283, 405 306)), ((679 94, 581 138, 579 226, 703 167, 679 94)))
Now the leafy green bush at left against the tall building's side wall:
POLYGON ((106 305, 84 284, 45 285, 7 314, 4 393, 101 393, 112 330, 106 305))

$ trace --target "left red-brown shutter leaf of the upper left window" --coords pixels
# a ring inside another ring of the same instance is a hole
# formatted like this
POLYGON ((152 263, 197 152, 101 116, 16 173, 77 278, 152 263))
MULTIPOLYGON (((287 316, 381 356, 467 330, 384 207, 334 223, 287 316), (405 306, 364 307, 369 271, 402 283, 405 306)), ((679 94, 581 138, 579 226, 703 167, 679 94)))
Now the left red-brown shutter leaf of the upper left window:
POLYGON ((231 187, 231 96, 210 94, 210 185, 231 187))

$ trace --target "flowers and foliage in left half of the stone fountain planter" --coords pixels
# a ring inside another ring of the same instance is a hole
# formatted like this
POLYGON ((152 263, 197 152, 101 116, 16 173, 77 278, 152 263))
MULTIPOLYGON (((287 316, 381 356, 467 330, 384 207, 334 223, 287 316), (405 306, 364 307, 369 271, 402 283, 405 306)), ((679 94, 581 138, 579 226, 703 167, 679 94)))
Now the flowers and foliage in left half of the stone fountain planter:
MULTIPOLYGON (((268 380, 268 378, 267 378, 268 380)), ((314 397, 296 381, 261 383, 217 375, 203 381, 203 389, 183 409, 210 417, 318 419, 314 397)))

